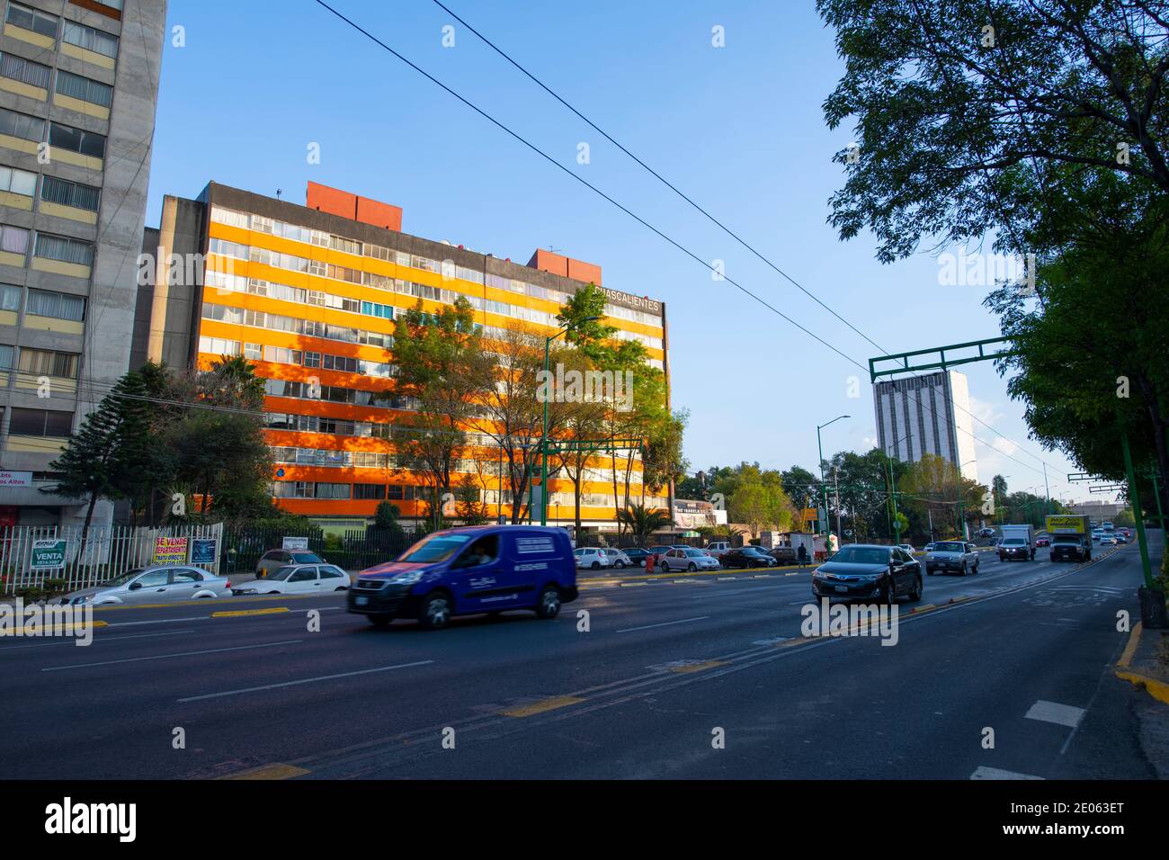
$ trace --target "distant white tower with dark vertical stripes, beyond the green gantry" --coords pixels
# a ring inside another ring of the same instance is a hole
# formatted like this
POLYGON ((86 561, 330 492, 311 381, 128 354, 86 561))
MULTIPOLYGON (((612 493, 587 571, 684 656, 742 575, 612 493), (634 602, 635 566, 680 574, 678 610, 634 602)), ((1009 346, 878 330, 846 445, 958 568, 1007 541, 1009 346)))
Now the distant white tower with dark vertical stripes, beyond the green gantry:
POLYGON ((936 454, 978 480, 970 388, 964 373, 940 371, 873 385, 880 449, 904 462, 936 454))

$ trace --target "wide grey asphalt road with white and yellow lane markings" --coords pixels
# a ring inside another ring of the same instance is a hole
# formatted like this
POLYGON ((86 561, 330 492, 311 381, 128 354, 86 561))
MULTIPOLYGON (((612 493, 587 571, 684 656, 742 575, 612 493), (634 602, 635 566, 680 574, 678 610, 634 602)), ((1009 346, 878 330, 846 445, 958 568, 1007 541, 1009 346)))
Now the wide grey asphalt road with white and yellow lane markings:
POLYGON ((894 646, 802 637, 807 571, 589 585, 554 621, 435 633, 341 596, 98 611, 90 647, 0 642, 0 778, 1149 778, 1143 694, 1111 670, 1137 549, 1101 555, 926 577, 894 646))

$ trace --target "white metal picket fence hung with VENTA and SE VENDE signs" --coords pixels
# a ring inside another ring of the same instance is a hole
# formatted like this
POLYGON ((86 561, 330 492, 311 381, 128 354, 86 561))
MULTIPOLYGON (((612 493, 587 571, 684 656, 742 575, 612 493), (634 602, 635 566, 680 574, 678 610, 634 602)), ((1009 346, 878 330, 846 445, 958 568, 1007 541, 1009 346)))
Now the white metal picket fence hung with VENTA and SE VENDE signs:
MULTIPOLYGON (((153 564, 158 538, 186 538, 187 546, 196 538, 206 538, 215 541, 215 546, 220 548, 222 535, 222 523, 164 529, 94 525, 82 546, 79 525, 4 527, 0 528, 0 594, 43 589, 47 580, 63 580, 58 586, 63 591, 85 589, 153 564)), ((217 558, 200 563, 187 562, 185 556, 178 563, 219 572, 217 558)))

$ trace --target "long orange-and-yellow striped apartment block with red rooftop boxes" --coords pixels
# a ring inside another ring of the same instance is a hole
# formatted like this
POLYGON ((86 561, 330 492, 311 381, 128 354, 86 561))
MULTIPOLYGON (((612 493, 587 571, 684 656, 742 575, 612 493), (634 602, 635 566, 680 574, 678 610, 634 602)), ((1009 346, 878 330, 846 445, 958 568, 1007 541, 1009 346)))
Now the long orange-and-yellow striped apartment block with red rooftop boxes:
MULTIPOLYGON (((160 266, 154 283, 139 287, 131 366, 251 360, 268 393, 272 495, 324 525, 365 524, 383 500, 403 517, 423 514, 421 476, 393 454, 411 404, 385 397, 397 314, 420 300, 434 312, 464 296, 489 339, 516 321, 551 335, 569 295, 589 282, 603 288, 600 267, 579 260, 538 250, 523 266, 401 227, 401 208, 314 183, 304 206, 212 183, 195 200, 166 197, 159 228, 144 236, 144 255, 160 266)), ((669 379, 665 304, 603 289, 616 336, 641 340, 669 379)), ((477 460, 464 460, 452 481, 485 481, 489 509, 510 514, 506 489, 499 503, 507 482, 498 445, 470 435, 477 460)), ((622 473, 625 465, 618 456, 622 473)), ((615 528, 610 469, 609 456, 599 457, 584 483, 587 527, 615 528)), ((639 497, 636 455, 632 475, 639 497)), ((548 490, 548 522, 570 524, 572 483, 552 479, 548 490)), ((646 493, 646 504, 666 501, 646 493)))

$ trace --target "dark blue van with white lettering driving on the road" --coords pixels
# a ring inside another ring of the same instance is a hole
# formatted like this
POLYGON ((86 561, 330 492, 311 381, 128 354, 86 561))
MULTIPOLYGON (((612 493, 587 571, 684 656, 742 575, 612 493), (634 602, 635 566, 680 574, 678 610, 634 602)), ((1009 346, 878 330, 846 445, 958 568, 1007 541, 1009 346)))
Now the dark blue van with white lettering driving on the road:
POLYGON ((427 629, 454 615, 534 610, 555 618, 575 600, 568 532, 538 525, 478 525, 427 535, 396 560, 358 573, 348 611, 379 627, 416 618, 427 629))

